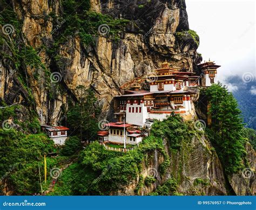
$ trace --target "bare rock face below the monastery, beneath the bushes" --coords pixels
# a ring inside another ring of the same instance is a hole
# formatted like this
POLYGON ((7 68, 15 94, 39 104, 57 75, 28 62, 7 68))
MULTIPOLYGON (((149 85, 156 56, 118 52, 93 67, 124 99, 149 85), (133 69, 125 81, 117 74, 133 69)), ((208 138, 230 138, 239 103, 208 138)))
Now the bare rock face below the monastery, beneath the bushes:
MULTIPOLYGON (((164 176, 159 170, 163 156, 157 150, 148 153, 140 174, 143 177, 155 176, 157 181, 149 186, 143 186, 139 194, 154 192, 166 180, 174 178, 178 182, 177 192, 183 195, 226 195, 226 181, 219 158, 204 135, 194 136, 189 142, 183 142, 180 151, 170 150, 170 145, 164 141, 171 164, 164 176)), ((134 195, 139 177, 119 195, 134 195)))

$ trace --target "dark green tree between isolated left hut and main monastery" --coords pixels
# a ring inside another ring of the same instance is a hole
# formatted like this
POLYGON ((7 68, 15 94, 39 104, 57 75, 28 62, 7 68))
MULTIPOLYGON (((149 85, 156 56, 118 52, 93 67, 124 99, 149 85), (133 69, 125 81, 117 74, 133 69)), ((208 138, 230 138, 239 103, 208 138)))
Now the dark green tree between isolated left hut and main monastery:
POLYGON ((98 131, 98 116, 100 108, 92 89, 79 86, 76 89, 79 102, 70 104, 67 114, 68 127, 73 135, 81 139, 91 139, 98 131))

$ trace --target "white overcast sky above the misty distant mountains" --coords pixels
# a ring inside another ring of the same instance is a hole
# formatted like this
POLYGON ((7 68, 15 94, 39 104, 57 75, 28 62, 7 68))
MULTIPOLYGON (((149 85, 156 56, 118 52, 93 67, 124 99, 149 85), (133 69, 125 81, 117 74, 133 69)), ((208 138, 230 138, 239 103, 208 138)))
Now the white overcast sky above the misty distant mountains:
POLYGON ((186 0, 186 5, 203 61, 221 65, 218 80, 250 72, 256 81, 255 0, 186 0))

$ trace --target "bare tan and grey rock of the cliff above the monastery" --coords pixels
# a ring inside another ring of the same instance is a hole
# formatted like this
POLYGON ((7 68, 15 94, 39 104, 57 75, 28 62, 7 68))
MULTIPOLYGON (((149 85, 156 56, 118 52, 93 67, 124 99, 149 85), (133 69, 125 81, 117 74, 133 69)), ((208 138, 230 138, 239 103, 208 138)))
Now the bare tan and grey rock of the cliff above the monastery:
MULTIPOLYGON (((56 41, 54 34, 63 24, 56 24, 52 18, 63 14, 60 1, 13 1, 21 23, 19 41, 35 48, 47 70, 29 65, 22 67, 25 83, 31 89, 28 93, 17 79, 19 70, 10 59, 2 57, 1 99, 8 105, 22 103, 26 106, 31 94, 35 100, 32 108, 41 122, 56 124, 63 115, 60 107, 67 107, 67 97, 76 101, 75 88, 79 85, 93 86, 103 110, 107 111, 112 97, 119 94, 120 86, 152 73, 165 59, 187 71, 196 68, 200 59, 196 41, 188 33, 182 39, 176 36, 176 32, 189 29, 184 1, 91 0, 90 4, 92 11, 130 20, 120 32, 120 39, 113 41, 99 34, 94 44, 85 47, 74 32, 65 37, 64 44, 52 55, 48 50, 56 41), (50 78, 47 72, 59 72, 57 79, 60 81, 47 83, 50 78)), ((14 41, 17 29, 14 30, 5 39, 14 41)), ((8 44, 4 43, 3 48, 12 56, 8 44)))

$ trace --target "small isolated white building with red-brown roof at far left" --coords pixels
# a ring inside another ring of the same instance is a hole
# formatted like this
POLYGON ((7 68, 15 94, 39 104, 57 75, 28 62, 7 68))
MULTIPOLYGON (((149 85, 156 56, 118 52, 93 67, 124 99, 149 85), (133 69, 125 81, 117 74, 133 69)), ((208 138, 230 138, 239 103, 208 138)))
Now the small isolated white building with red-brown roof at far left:
POLYGON ((41 125, 42 130, 53 140, 56 145, 65 144, 69 128, 64 126, 41 125))

